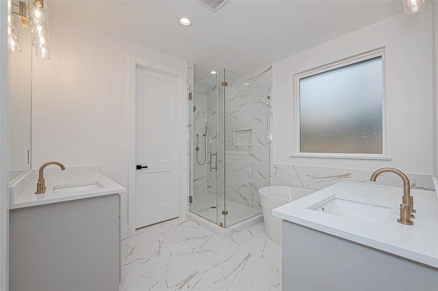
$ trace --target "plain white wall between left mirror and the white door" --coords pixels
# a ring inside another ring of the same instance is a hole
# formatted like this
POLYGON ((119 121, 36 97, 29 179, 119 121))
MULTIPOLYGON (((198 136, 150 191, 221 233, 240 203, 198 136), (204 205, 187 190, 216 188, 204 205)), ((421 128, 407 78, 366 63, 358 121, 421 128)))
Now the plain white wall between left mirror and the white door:
MULTIPOLYGON (((66 167, 101 165, 104 175, 127 188, 128 55, 184 72, 187 62, 62 15, 51 15, 50 41, 52 59, 33 60, 33 167, 52 160, 66 167)), ((186 114, 182 119, 185 127, 186 114)), ((126 193, 122 219, 126 226, 126 193)))

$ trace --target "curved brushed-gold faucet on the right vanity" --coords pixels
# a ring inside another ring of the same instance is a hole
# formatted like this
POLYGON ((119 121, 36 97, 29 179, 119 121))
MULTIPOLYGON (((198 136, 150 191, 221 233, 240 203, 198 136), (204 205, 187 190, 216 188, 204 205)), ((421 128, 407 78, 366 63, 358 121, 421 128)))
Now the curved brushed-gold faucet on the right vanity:
POLYGON ((405 225, 413 225, 414 222, 411 220, 411 218, 415 218, 415 216, 412 214, 412 212, 416 212, 414 210, 414 197, 411 196, 410 191, 410 184, 409 179, 404 175, 402 171, 399 171, 394 168, 381 168, 375 171, 372 175, 370 180, 375 182, 377 176, 379 176, 382 173, 394 173, 399 175, 400 178, 403 180, 403 203, 400 204, 400 218, 397 218, 397 221, 399 223, 405 224, 405 225))

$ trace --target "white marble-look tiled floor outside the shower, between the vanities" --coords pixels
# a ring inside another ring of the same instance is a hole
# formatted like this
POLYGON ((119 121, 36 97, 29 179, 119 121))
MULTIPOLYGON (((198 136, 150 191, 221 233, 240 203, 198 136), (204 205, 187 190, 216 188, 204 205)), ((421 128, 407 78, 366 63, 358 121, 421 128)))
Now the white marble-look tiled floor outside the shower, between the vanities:
POLYGON ((122 241, 123 291, 280 291, 281 247, 264 224, 221 238, 174 219, 122 241))

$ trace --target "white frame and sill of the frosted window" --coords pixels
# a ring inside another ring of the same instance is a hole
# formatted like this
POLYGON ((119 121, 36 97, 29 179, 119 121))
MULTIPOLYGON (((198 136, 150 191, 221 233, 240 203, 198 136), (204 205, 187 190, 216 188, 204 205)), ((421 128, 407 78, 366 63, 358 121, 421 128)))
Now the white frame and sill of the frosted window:
POLYGON ((386 85, 385 85, 385 47, 372 49, 364 53, 356 54, 329 64, 321 65, 306 71, 299 72, 292 76, 295 98, 295 129, 296 143, 295 150, 290 157, 305 158, 337 158, 337 159, 365 159, 365 160, 391 160, 386 152, 386 85), (382 57, 382 154, 350 154, 350 153, 305 153, 300 149, 300 92, 299 81, 302 78, 310 77, 336 68, 356 64, 375 57, 382 57))

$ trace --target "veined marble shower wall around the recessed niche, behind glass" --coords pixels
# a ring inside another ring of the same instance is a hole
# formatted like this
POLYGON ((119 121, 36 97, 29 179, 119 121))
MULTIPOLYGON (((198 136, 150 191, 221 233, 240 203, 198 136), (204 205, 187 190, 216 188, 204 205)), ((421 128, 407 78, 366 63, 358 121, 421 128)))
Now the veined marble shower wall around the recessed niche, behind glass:
POLYGON ((226 198, 260 211, 258 190, 270 184, 270 74, 272 66, 226 74, 226 198), (234 131, 242 129, 252 130, 251 145, 235 145, 234 131))

